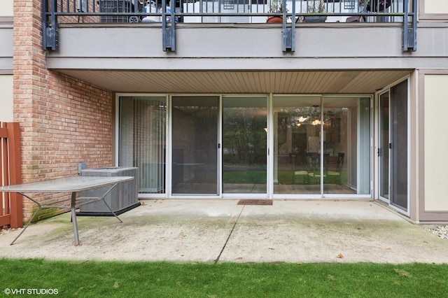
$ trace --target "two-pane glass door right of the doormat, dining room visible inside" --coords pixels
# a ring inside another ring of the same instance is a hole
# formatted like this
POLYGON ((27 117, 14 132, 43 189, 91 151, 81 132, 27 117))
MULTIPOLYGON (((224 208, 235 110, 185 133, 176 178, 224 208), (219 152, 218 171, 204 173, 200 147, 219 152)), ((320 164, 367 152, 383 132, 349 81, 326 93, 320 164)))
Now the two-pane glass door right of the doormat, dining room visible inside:
POLYGON ((371 193, 370 97, 274 97, 274 194, 371 193))

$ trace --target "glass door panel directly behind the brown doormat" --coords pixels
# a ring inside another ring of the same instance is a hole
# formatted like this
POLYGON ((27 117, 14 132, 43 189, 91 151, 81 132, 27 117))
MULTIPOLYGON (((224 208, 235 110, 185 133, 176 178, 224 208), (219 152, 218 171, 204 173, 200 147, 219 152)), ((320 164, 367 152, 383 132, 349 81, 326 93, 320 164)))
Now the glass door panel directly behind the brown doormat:
POLYGON ((223 97, 223 194, 267 194, 267 98, 223 97))

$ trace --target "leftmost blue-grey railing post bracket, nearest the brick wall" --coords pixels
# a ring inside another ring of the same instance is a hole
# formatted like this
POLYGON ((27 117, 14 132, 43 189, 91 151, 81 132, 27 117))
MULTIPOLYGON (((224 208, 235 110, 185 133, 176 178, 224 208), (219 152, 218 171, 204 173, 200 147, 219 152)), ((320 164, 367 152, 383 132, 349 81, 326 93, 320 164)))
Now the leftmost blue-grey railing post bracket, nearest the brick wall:
POLYGON ((51 11, 49 11, 48 0, 42 1, 42 48, 43 50, 57 50, 59 44, 57 41, 57 0, 51 0, 51 11), (51 22, 48 24, 48 13, 50 13, 51 22))

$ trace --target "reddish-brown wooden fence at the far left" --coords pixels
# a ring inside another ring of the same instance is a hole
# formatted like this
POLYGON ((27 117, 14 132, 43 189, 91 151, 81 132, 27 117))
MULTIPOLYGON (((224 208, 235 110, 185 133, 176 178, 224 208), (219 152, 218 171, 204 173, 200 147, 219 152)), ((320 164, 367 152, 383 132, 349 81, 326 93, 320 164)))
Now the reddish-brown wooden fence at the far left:
MULTIPOLYGON (((0 122, 0 185, 21 183, 20 127, 18 122, 0 122)), ((0 229, 23 227, 22 196, 0 192, 0 229)))

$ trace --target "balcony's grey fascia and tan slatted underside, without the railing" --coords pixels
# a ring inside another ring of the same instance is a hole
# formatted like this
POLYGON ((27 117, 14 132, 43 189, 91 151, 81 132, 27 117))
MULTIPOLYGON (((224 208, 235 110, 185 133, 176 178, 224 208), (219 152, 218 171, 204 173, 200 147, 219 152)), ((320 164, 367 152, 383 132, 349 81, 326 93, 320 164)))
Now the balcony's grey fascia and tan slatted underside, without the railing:
POLYGON ((158 24, 62 24, 47 67, 115 92, 372 93, 448 68, 447 50, 431 46, 438 29, 424 30, 409 53, 399 24, 299 24, 295 52, 283 52, 281 26, 179 24, 165 52, 158 24))

